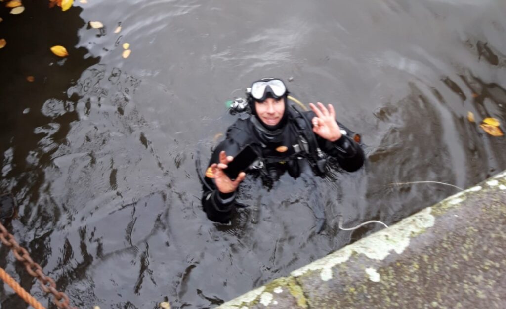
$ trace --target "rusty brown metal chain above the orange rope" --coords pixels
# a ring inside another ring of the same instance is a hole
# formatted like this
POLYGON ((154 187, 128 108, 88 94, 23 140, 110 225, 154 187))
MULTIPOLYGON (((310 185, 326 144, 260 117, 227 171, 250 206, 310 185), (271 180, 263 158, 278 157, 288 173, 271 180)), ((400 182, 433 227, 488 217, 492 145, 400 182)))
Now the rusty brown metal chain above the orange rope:
POLYGON ((23 262, 25 265, 26 272, 30 274, 33 278, 36 278, 40 283, 40 288, 45 293, 51 293, 54 295, 54 303, 60 309, 77 309, 76 307, 70 306, 70 301, 67 294, 60 292, 56 289, 55 281, 44 275, 42 271, 42 267, 38 263, 35 263, 28 251, 21 247, 14 236, 9 234, 9 231, 5 228, 5 226, 0 223, 0 240, 4 245, 11 248, 12 252, 16 259, 20 262, 23 262))

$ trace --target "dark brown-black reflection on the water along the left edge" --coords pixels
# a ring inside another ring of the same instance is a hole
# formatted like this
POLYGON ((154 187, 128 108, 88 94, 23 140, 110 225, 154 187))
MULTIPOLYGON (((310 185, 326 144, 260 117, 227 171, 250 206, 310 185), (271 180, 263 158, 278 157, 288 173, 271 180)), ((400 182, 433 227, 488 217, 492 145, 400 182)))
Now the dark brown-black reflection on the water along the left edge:
MULTIPOLYGON (((72 257, 72 249, 65 245, 59 266, 48 268, 48 265, 51 256, 58 254, 58 247, 51 245, 52 237, 58 234, 62 217, 71 213, 51 194, 51 177, 45 169, 52 165, 58 149, 67 143, 71 123, 78 120, 77 99, 69 97, 67 89, 83 70, 100 59, 85 59, 87 50, 74 48, 79 41, 77 30, 85 25, 79 18, 81 9, 62 13, 50 10, 44 1, 23 4, 26 10, 21 15, 4 14, 7 9, 0 9, 4 18, 2 32, 9 40, 8 48, 0 55, 0 161, 3 162, 0 188, 3 192, 12 191, 20 206, 19 220, 14 220, 9 229, 46 273, 57 280, 58 288, 66 290, 75 277, 72 274, 79 273, 74 269, 61 276, 60 269, 72 257), (64 45, 70 56, 62 59, 53 55, 49 48, 54 45, 64 45), (29 75, 34 76, 31 83, 26 79, 29 75)), ((14 262, 12 254, 5 247, 1 250, 1 266, 19 278, 26 290, 48 303, 38 284, 14 262)), ((6 308, 27 306, 4 287, 0 298, 6 308)))

